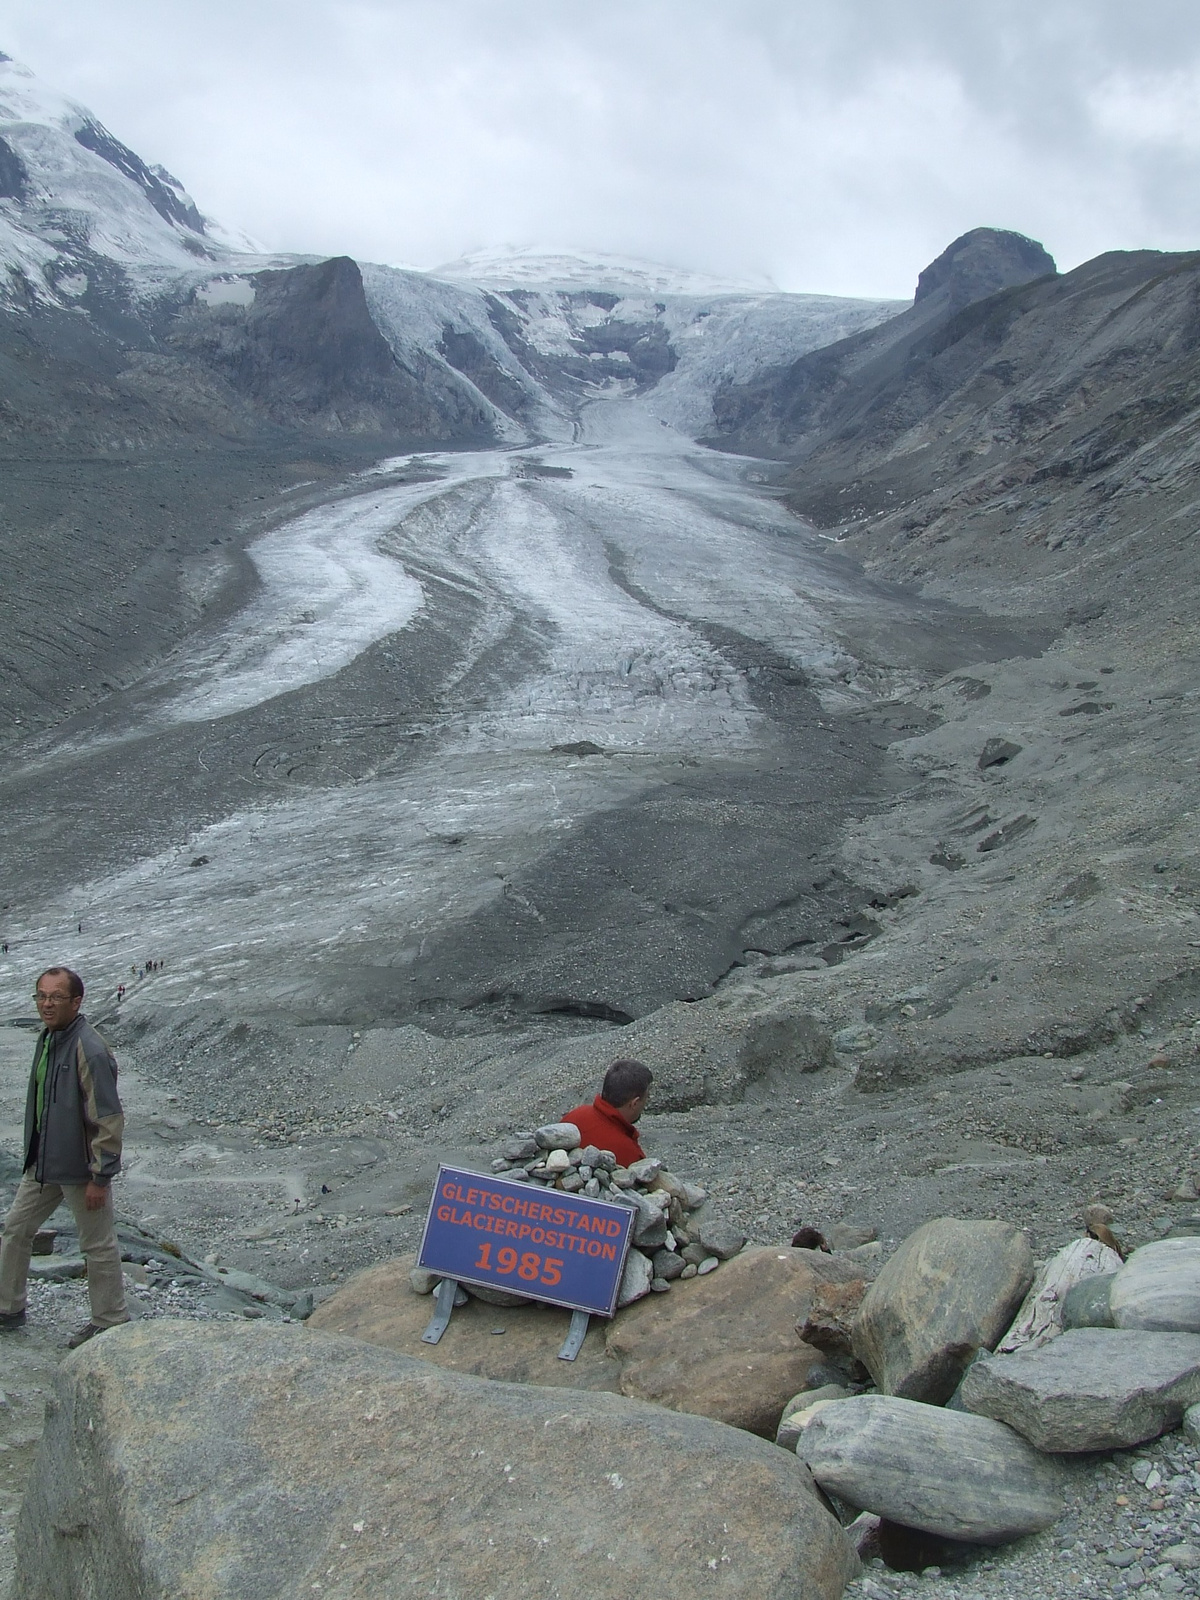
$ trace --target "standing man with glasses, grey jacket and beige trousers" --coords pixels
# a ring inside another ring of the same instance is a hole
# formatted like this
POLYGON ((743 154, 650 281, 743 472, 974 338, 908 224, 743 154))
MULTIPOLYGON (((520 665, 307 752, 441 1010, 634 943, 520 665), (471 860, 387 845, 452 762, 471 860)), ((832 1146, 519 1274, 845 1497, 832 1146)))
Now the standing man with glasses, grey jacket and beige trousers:
POLYGON ((42 1032, 26 1098, 24 1176, 0 1245, 0 1331, 24 1323, 34 1235, 66 1200, 88 1262, 91 1301, 91 1322, 67 1341, 75 1350, 104 1328, 130 1320, 109 1189, 120 1168, 125 1117, 112 1051, 80 1013, 78 973, 48 966, 34 1002, 42 1032))

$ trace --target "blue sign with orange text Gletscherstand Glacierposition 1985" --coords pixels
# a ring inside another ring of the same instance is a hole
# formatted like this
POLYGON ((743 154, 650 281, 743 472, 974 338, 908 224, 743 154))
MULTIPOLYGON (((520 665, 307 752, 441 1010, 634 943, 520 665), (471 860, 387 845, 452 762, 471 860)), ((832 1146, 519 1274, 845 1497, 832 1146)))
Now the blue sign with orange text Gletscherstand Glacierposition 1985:
POLYGON ((635 1213, 605 1200, 438 1166, 418 1264, 611 1317, 635 1213))

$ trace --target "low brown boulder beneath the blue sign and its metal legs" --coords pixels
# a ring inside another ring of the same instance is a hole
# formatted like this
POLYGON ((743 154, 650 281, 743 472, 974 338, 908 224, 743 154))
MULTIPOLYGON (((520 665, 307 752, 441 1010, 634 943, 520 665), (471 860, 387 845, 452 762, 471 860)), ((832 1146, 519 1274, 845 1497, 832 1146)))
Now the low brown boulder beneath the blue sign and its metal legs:
POLYGON ((592 1318, 579 1355, 573 1362, 558 1360, 571 1314, 557 1306, 530 1302, 498 1310, 480 1304, 472 1291, 438 1342, 422 1344, 434 1304, 413 1293, 411 1266, 413 1256, 400 1256, 355 1274, 317 1307, 306 1326, 350 1334, 435 1366, 501 1382, 608 1389, 613 1394, 619 1389, 621 1365, 605 1350, 600 1318, 592 1318))

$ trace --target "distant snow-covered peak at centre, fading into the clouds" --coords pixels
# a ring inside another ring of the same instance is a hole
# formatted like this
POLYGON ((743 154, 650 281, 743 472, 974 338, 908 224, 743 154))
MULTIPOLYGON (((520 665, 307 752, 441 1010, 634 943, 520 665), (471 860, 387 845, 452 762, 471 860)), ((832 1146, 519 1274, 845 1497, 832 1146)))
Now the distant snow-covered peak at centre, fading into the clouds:
POLYGON ((430 277, 454 283, 475 283, 488 290, 608 290, 621 296, 653 294, 770 294, 768 278, 714 278, 685 267, 667 267, 656 261, 638 261, 606 251, 582 254, 571 250, 547 250, 534 245, 502 245, 477 250, 458 261, 430 269, 430 277))

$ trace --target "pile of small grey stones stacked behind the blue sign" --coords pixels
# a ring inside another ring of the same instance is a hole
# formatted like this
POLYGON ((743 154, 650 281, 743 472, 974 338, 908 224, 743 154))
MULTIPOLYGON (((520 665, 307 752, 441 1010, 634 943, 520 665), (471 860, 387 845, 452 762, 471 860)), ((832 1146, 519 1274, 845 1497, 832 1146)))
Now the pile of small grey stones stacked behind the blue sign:
POLYGON ((677 1278, 715 1272, 746 1243, 731 1224, 701 1214, 709 1194, 683 1182, 654 1155, 621 1166, 611 1150, 579 1142, 573 1122, 552 1122, 506 1139, 493 1173, 637 1211, 619 1304, 664 1294, 677 1278))

